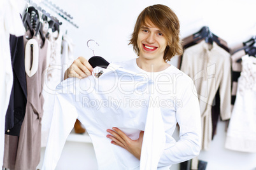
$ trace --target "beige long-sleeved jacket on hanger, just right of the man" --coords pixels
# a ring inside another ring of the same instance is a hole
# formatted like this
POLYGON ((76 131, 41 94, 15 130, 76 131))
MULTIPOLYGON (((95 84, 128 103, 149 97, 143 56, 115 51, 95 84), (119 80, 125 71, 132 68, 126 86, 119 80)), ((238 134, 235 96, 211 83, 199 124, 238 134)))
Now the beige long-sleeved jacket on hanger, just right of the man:
MULTIPOLYGON (((202 149, 208 150, 216 128, 212 115, 216 114, 215 117, 220 115, 222 120, 231 117, 229 48, 227 42, 213 34, 209 27, 203 27, 183 39, 183 49, 180 69, 189 75, 196 85, 201 109, 202 149)), ((187 162, 184 164, 186 165, 181 167, 206 169, 207 162, 195 158, 192 159, 191 164, 187 162)))

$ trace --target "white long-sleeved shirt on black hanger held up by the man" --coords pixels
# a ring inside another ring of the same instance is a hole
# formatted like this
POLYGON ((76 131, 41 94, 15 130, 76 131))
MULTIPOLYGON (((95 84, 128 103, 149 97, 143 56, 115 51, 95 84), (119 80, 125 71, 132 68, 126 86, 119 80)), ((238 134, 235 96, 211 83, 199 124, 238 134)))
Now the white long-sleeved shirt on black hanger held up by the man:
POLYGON ((92 138, 99 169, 139 169, 139 164, 143 169, 157 169, 166 140, 160 108, 146 105, 155 98, 145 93, 151 91, 151 84, 145 77, 113 64, 99 79, 90 76, 62 82, 57 87, 59 93, 42 169, 55 168, 77 117, 92 138), (141 106, 130 107, 133 101, 140 102, 141 106), (120 128, 132 140, 138 139, 140 131, 145 131, 141 161, 110 143, 106 129, 112 127, 120 128))

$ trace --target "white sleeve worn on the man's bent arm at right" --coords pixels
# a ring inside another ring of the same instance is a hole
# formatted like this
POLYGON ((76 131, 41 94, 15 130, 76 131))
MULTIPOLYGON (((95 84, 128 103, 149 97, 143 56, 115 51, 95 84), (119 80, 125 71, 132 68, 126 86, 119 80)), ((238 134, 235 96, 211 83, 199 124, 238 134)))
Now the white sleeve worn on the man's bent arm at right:
MULTIPOLYGON (((185 84, 185 83, 184 83, 185 84)), ((196 87, 190 79, 184 88, 181 105, 176 106, 176 119, 180 126, 180 140, 174 145, 166 143, 159 167, 178 164, 199 155, 201 149, 201 114, 196 87)))

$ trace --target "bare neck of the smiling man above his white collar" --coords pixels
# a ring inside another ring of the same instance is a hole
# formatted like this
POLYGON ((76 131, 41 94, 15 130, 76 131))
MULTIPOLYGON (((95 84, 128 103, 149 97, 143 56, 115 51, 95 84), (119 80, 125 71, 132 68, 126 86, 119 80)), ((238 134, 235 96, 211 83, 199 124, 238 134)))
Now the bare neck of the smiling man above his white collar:
POLYGON ((161 61, 157 59, 157 61, 155 61, 155 60, 147 60, 145 58, 139 57, 137 58, 136 62, 138 67, 145 70, 146 72, 160 72, 162 70, 167 69, 167 67, 169 67, 169 64, 166 63, 164 59, 162 59, 161 61))

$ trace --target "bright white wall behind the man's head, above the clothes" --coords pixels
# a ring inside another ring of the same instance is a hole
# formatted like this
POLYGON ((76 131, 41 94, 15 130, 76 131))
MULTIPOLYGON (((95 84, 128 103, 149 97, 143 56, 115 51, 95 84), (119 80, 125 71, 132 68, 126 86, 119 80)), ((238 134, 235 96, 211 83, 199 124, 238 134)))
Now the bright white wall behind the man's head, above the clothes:
POLYGON ((139 13, 152 4, 166 4, 176 12, 181 23, 181 37, 196 32, 203 25, 208 25, 211 31, 227 41, 229 46, 256 34, 254 0, 53 2, 71 13, 74 22, 80 26, 79 29, 75 29, 68 25, 68 34, 73 37, 76 44, 75 56, 86 58, 93 55, 87 48, 86 42, 89 39, 94 39, 100 44, 96 49, 96 55, 104 56, 109 61, 122 61, 134 57, 132 47, 127 46, 129 37, 139 13))

